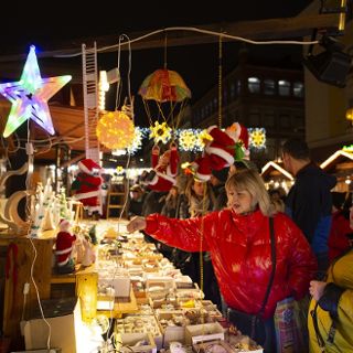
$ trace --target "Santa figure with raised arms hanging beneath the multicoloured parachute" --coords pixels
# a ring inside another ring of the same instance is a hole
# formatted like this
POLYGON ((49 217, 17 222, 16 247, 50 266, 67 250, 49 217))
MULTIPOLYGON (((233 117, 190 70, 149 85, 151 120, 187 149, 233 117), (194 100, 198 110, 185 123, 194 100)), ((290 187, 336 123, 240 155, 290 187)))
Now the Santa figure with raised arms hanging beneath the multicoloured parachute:
POLYGON ((143 180, 149 189, 158 192, 168 192, 175 185, 178 174, 179 153, 176 143, 171 143, 170 149, 160 156, 160 148, 152 148, 152 168, 143 180))

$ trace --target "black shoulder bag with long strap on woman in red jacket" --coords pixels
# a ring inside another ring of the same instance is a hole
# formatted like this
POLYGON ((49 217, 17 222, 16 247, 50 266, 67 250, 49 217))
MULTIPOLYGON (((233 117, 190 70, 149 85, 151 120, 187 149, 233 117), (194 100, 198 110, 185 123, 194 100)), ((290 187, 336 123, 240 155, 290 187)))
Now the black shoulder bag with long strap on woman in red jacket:
POLYGON ((275 239, 275 231, 274 231, 274 218, 269 217, 269 227, 270 227, 270 242, 271 242, 271 263, 272 270, 271 276, 268 281, 268 286, 266 289, 265 298, 261 304, 261 309, 257 314, 249 314, 243 311, 227 309, 227 319, 235 327, 242 331, 243 334, 247 334, 250 339, 255 340, 258 344, 264 344, 266 341, 266 330, 265 322, 263 319, 265 307, 269 297, 269 292, 272 287, 275 271, 276 271, 276 239, 275 239))

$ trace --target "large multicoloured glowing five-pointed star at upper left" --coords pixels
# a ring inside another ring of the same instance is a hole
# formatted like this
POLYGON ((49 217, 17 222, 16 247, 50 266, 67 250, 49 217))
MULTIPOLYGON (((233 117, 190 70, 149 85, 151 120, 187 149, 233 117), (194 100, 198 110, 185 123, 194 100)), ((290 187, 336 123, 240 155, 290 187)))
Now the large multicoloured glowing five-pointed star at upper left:
POLYGON ((32 45, 20 81, 0 84, 0 94, 12 103, 3 137, 9 137, 24 121, 32 119, 54 135, 47 100, 71 81, 72 76, 42 78, 32 45))

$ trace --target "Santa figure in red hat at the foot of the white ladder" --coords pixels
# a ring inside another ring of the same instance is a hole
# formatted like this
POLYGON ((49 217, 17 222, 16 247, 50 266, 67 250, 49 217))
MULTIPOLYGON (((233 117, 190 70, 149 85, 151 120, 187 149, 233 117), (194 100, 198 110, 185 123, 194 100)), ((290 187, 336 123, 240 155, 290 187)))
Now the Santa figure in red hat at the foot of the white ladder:
POLYGON ((100 167, 92 159, 78 162, 79 172, 72 184, 74 199, 82 202, 88 215, 94 212, 101 215, 101 176, 98 174, 100 167))

